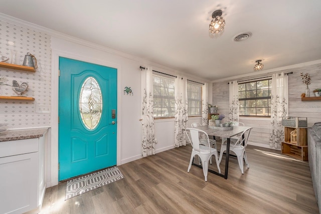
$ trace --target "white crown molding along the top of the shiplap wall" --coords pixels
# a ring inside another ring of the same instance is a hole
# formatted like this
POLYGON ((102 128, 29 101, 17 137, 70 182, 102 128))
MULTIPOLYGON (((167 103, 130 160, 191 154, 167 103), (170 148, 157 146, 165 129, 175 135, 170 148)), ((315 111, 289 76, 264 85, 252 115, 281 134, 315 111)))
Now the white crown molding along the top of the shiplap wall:
POLYGON ((321 60, 315 60, 315 61, 306 62, 306 63, 300 63, 300 64, 289 65, 289 66, 284 66, 284 67, 279 67, 279 68, 273 68, 273 69, 269 69, 269 70, 266 70, 266 71, 260 71, 260 72, 255 72, 255 73, 247 73, 247 74, 242 74, 242 75, 238 75, 238 76, 222 78, 222 79, 218 79, 218 80, 213 80, 211 83, 217 83, 217 82, 223 82, 223 81, 232 81, 232 80, 237 80, 237 79, 241 79, 241 78, 244 78, 244 77, 258 76, 258 75, 264 75, 264 74, 266 75, 266 74, 271 74, 271 73, 275 73, 275 72, 278 72, 278 71, 284 71, 284 70, 293 69, 293 68, 300 68, 300 67, 309 66, 309 65, 315 65, 315 64, 320 64, 320 63, 321 63, 321 60))

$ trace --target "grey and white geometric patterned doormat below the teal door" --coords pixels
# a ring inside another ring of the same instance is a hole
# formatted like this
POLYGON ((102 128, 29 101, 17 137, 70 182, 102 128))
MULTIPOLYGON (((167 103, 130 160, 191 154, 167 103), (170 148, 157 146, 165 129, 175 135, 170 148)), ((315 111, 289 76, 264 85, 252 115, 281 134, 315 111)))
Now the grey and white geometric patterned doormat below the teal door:
POLYGON ((124 178, 117 166, 67 181, 65 200, 124 178))

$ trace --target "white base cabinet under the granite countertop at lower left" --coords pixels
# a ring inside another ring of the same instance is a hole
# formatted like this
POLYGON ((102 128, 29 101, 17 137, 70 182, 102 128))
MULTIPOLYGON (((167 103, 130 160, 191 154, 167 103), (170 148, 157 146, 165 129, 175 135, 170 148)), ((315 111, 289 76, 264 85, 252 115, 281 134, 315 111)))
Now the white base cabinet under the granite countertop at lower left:
POLYGON ((0 213, 40 212, 46 189, 46 135, 0 142, 0 213))

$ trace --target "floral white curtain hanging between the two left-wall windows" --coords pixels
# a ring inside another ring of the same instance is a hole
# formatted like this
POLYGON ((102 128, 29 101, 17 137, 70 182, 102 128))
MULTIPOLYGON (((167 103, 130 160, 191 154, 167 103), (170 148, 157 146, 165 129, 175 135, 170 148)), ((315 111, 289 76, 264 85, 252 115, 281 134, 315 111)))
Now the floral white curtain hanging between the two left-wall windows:
POLYGON ((187 78, 178 75, 175 80, 175 147, 186 145, 186 135, 183 129, 187 128, 187 107, 187 78))

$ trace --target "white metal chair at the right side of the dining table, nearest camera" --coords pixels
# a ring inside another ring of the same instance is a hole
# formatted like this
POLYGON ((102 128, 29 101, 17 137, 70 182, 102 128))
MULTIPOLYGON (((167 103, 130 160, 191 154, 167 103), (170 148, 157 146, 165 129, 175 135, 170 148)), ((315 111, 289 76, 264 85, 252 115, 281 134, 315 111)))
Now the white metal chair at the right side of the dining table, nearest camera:
MULTIPOLYGON (((232 142, 232 139, 230 141, 230 151, 233 151, 236 154, 237 161, 240 165, 240 169, 241 169, 242 174, 244 174, 243 157, 244 157, 245 163, 247 165, 247 168, 250 168, 249 163, 247 161, 245 148, 247 146, 247 142, 250 137, 251 131, 252 131, 252 127, 243 131, 242 134, 240 135, 239 139, 235 143, 232 142)), ((226 151, 226 145, 227 145, 227 140, 222 142, 219 163, 221 163, 221 161, 222 161, 223 152, 226 151)))

